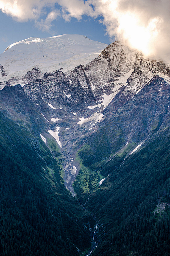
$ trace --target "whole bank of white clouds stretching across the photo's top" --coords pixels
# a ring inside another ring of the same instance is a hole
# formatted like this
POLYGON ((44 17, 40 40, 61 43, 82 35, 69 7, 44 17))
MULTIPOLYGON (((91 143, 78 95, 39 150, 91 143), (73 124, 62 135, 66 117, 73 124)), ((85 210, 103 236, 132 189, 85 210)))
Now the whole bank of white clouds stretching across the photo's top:
POLYGON ((0 9, 21 22, 34 19, 43 31, 50 31, 58 16, 67 22, 71 17, 102 16, 100 22, 111 38, 122 39, 148 56, 170 55, 169 0, 0 0, 0 9))

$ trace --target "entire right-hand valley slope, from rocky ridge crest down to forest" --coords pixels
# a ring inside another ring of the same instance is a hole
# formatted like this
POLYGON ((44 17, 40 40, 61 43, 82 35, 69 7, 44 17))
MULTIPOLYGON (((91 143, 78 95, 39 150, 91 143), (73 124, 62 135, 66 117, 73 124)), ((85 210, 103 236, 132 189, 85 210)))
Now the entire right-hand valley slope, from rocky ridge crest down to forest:
POLYGON ((156 76, 78 151, 73 186, 98 221, 92 255, 169 255, 169 121, 169 85, 156 76))

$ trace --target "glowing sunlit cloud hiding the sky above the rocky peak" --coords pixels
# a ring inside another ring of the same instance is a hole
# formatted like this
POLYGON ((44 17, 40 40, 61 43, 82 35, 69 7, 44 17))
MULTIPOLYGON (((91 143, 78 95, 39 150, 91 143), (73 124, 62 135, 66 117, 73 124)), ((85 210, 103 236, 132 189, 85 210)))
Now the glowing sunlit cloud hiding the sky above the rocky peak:
POLYGON ((169 0, 94 0, 110 37, 122 39, 147 56, 170 54, 169 0))

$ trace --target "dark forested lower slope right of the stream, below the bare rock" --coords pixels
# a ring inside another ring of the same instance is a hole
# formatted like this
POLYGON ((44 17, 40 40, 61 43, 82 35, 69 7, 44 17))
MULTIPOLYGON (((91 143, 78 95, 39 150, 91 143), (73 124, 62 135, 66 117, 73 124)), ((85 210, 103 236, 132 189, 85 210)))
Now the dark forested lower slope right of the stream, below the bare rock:
POLYGON ((102 167, 111 175, 86 204, 101 224, 93 255, 169 255, 169 143, 168 129, 121 165, 115 157, 102 167))

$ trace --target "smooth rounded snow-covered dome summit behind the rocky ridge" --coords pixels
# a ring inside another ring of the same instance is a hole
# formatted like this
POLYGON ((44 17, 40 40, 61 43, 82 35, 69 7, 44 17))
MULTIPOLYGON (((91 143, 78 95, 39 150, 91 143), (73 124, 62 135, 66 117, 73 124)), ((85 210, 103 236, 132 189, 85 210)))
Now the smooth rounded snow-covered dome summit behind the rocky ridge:
POLYGON ((33 67, 38 67, 43 73, 60 68, 64 72, 72 70, 99 56, 106 46, 107 44, 78 34, 49 38, 30 37, 11 44, 0 54, 0 64, 7 74, 1 77, 1 81, 24 75, 33 67))

